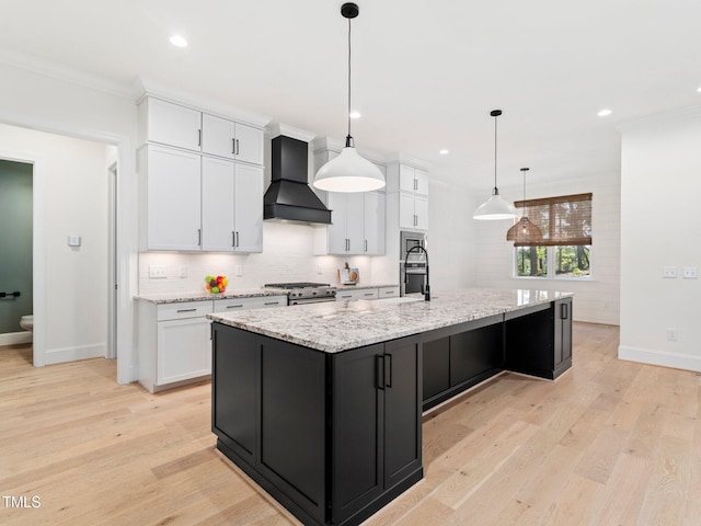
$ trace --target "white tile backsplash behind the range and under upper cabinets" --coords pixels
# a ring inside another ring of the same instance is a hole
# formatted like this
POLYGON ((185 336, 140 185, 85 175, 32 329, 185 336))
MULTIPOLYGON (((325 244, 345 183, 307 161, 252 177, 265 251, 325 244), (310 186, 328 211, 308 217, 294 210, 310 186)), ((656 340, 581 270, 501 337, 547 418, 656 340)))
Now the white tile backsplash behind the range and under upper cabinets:
POLYGON ((314 227, 268 221, 263 224, 263 252, 257 254, 141 252, 139 294, 197 291, 208 274, 226 275, 230 289, 281 282, 336 284, 336 271, 346 261, 359 268, 361 282, 399 281, 392 258, 314 255, 313 245, 314 227), (149 268, 159 271, 159 277, 149 277, 149 268))

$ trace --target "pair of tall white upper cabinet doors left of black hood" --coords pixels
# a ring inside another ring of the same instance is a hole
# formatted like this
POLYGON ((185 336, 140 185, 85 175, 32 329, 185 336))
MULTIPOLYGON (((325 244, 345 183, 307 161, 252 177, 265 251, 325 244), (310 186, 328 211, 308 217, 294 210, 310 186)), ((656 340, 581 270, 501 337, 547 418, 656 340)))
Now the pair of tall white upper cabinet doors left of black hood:
POLYGON ((202 250, 263 250, 263 169, 203 157, 202 250))

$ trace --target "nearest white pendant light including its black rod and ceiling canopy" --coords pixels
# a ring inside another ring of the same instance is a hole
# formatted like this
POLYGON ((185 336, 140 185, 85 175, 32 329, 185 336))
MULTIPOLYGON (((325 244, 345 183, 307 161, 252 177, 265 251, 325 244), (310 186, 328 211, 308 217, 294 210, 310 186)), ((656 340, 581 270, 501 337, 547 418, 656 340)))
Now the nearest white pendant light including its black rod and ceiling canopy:
POLYGON ((358 13, 355 3, 341 7, 341 14, 348 19, 348 135, 341 155, 321 167, 314 176, 314 187, 326 192, 370 192, 384 186, 384 175, 380 169, 358 155, 350 136, 350 19, 358 13))

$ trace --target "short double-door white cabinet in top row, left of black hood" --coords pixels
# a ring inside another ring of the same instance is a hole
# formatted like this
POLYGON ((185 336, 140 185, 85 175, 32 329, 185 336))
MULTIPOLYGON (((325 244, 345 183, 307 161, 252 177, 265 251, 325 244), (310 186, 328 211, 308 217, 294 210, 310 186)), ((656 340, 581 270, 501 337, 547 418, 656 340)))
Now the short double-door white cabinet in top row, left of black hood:
POLYGON ((263 130, 203 113, 202 151, 237 161, 263 164, 263 130))

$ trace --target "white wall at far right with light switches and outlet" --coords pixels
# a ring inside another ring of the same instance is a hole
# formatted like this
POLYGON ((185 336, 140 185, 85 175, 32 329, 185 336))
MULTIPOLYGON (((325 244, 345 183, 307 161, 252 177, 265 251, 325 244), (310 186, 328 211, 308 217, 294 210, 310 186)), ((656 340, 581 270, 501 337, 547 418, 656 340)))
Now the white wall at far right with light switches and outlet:
POLYGON ((683 266, 701 266, 701 108, 621 130, 619 356, 701 370, 701 282, 681 277, 683 266), (677 278, 663 278, 666 265, 677 278))

